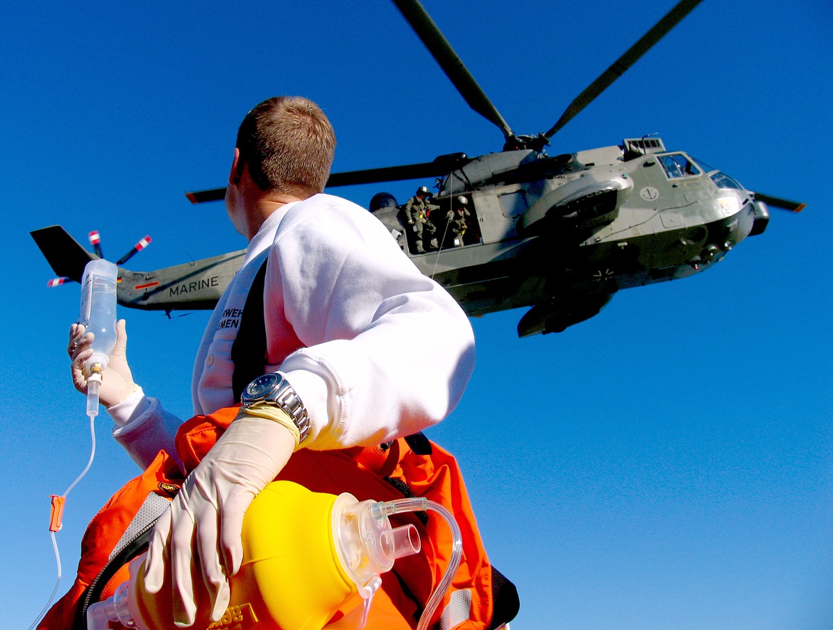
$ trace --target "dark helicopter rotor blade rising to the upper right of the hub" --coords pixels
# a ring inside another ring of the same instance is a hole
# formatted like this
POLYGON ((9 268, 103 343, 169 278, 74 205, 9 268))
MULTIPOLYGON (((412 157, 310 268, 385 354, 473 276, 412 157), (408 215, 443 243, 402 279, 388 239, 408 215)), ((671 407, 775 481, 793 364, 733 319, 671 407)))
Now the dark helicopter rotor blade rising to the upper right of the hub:
POLYGON ((576 117, 576 115, 593 102, 593 100, 599 96, 601 92, 604 92, 608 87, 610 87, 612 82, 616 81, 616 79, 621 77, 629 67, 636 63, 642 55, 651 50, 651 47, 653 47, 656 42, 659 42, 662 37, 665 37, 666 34, 671 31, 671 28, 674 28, 682 18, 685 18, 686 15, 691 13, 691 10, 700 4, 700 2, 702 2, 702 0, 681 0, 681 2, 677 2, 676 6, 673 7, 671 11, 666 13, 664 18, 657 22, 650 31, 646 32, 638 42, 628 48, 625 54, 616 59, 611 67, 608 67, 605 72, 602 72, 601 75, 596 78, 596 81, 586 87, 584 92, 581 92, 581 94, 573 99, 570 106, 567 107, 564 113, 561 114, 558 122, 556 122, 556 124, 553 125, 552 128, 544 134, 544 136, 546 138, 551 138, 559 129, 564 127, 567 122, 570 122, 574 117, 576 117))

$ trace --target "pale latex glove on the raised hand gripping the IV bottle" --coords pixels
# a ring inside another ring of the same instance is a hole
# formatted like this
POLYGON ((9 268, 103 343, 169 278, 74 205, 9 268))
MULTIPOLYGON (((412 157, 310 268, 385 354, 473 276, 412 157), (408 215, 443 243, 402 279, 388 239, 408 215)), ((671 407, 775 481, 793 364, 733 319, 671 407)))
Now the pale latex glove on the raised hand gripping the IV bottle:
MULTIPOLYGON (((92 333, 84 334, 83 324, 72 324, 69 327, 69 344, 67 354, 72 359, 72 384, 82 394, 87 394, 87 377, 84 363, 92 357, 92 333)), ((102 384, 98 390, 98 399, 104 407, 112 407, 121 403, 136 391, 130 366, 127 365, 127 328, 123 319, 116 323, 116 345, 110 355, 110 363, 102 373, 102 384)))

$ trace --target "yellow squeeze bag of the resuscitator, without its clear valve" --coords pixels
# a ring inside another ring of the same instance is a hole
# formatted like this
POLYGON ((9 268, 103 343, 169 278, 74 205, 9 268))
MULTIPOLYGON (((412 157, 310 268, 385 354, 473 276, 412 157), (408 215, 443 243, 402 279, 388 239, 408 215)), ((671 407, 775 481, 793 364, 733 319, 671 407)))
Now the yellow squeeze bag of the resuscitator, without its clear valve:
MULTIPOLYGON (((337 557, 331 525, 335 501, 335 495, 313 493, 297 483, 270 483, 243 518, 243 562, 229 580, 226 614, 209 622, 211 607, 201 597, 192 627, 320 630, 350 599, 359 604, 357 587, 337 557)), ((170 583, 151 595, 142 585, 142 564, 131 569, 134 618, 140 616, 148 630, 175 628, 170 583)))

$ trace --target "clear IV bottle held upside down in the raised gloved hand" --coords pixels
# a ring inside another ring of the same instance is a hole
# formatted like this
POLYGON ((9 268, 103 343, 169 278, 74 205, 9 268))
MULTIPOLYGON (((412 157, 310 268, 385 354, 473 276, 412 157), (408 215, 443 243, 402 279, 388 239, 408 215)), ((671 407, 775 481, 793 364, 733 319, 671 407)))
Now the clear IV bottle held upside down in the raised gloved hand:
POLYGON ((116 285, 118 268, 104 259, 91 260, 81 280, 81 314, 78 323, 92 333, 92 357, 84 368, 87 378, 87 415, 98 413, 98 388, 101 374, 116 345, 116 285))

